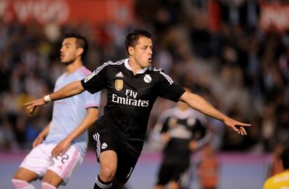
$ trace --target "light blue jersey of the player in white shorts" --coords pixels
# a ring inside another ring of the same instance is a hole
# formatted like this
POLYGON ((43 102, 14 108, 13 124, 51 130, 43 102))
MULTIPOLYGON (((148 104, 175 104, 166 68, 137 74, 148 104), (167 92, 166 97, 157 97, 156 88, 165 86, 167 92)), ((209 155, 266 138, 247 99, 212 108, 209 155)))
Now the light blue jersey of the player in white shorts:
MULTIPOLYGON (((66 84, 82 80, 91 73, 90 70, 82 66, 74 73, 61 75, 55 84, 54 91, 61 89, 66 84)), ((87 108, 99 107, 101 103, 101 93, 91 94, 84 91, 71 98, 65 98, 54 102, 50 132, 44 144, 58 143, 71 133, 83 121, 87 115, 87 108)), ((88 132, 73 140, 73 145, 80 151, 82 156, 87 151, 88 132)))

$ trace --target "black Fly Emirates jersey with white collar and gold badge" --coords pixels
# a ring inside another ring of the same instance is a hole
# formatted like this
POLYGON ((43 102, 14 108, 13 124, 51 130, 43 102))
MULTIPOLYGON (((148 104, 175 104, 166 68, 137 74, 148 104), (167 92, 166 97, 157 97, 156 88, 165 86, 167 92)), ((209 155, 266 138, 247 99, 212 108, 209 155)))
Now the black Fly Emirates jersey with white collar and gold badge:
POLYGON ((128 59, 103 63, 81 83, 90 93, 107 89, 108 102, 98 123, 122 139, 141 143, 156 98, 177 102, 185 91, 153 66, 133 75, 128 59))

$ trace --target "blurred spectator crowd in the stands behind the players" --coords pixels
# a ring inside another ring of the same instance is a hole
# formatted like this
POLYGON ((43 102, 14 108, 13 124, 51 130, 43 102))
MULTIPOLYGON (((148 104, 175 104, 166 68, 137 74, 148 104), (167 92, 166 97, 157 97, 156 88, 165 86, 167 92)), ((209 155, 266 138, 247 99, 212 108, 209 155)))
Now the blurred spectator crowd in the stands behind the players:
MULTIPOLYGON (((0 151, 31 148, 52 116, 52 104, 28 116, 23 104, 54 89, 63 73, 59 49, 65 33, 89 40, 84 62, 94 70, 105 61, 126 58, 124 39, 135 28, 154 35, 154 66, 177 84, 190 87, 228 116, 251 123, 248 136, 209 119, 212 144, 222 151, 268 152, 289 142, 289 33, 259 27, 260 1, 135 1, 135 22, 41 25, 0 20, 0 151), (212 29, 209 4, 220 8, 212 29), (148 13, 149 12, 149 13, 148 13)), ((105 98, 105 93, 103 93, 105 98)), ((149 121, 174 103, 158 99, 149 121)))

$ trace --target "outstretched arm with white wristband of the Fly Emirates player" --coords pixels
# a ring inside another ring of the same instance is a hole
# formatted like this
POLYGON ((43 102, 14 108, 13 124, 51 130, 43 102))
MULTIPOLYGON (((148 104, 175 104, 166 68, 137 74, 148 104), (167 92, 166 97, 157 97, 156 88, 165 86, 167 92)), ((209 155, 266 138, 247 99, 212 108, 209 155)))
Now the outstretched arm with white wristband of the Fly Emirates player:
POLYGON ((49 103, 50 101, 60 100, 63 98, 75 96, 78 93, 81 93, 82 91, 84 91, 84 88, 82 87, 82 84, 80 81, 72 82, 71 84, 68 84, 62 87, 61 89, 59 89, 58 91, 55 91, 54 93, 51 93, 50 95, 47 95, 42 98, 38 98, 29 103, 25 103, 24 106, 26 106, 27 109, 29 110, 29 115, 32 115, 34 113, 34 110, 38 106, 45 105, 49 103))

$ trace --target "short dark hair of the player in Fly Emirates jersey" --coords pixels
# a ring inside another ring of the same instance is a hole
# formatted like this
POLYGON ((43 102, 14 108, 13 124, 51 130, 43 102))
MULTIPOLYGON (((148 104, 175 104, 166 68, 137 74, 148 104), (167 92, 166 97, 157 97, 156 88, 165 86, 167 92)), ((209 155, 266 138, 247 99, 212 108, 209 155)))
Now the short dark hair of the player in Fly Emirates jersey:
POLYGON ((135 45, 137 45, 138 39, 140 37, 151 38, 151 33, 144 29, 135 29, 128 33, 128 35, 126 36, 126 52, 128 52, 129 46, 135 47, 135 45))

